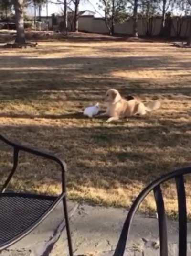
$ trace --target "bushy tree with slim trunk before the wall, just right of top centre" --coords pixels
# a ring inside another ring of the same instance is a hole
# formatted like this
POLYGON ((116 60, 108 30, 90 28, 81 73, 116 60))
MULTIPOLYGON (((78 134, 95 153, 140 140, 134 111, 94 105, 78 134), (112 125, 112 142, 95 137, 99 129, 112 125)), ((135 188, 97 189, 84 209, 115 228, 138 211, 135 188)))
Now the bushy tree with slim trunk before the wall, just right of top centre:
POLYGON ((114 35, 115 24, 127 19, 127 0, 100 0, 99 7, 105 12, 105 22, 109 34, 114 35))

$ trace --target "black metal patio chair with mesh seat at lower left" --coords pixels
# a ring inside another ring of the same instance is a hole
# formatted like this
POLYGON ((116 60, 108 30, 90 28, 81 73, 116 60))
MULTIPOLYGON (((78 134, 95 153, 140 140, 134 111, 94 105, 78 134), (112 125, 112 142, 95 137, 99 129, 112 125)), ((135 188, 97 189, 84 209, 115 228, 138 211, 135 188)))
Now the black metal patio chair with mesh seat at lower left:
POLYGON ((69 218, 66 204, 66 164, 57 156, 19 145, 0 135, 0 140, 13 148, 13 167, 0 191, 0 252, 29 234, 63 201, 69 254, 73 256, 69 218), (6 189, 18 166, 19 152, 24 151, 58 163, 62 170, 62 193, 59 196, 45 196, 20 192, 7 192, 6 189))

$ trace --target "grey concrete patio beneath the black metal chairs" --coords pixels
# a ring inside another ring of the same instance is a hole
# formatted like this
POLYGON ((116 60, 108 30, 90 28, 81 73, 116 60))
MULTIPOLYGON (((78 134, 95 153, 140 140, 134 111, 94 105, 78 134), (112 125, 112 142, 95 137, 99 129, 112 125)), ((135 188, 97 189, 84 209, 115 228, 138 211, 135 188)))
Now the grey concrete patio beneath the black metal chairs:
MULTIPOLYGON (((112 256, 127 216, 125 209, 69 202, 75 256, 112 256)), ((36 230, 1 252, 2 256, 67 256, 67 238, 60 204, 36 230)), ((168 220, 169 255, 178 255, 178 223, 168 220)), ((158 220, 137 215, 126 254, 159 256, 158 220)), ((191 256, 191 223, 188 223, 188 256, 191 256)))

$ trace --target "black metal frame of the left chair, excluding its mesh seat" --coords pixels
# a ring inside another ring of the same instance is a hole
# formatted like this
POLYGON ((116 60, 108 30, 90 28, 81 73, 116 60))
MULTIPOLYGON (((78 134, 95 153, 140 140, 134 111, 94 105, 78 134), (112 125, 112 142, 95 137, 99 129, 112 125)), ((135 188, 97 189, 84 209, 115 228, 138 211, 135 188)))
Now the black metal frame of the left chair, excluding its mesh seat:
MULTIPOLYGON (((1 192, 0 192, 0 208, 1 208, 1 200, 5 197, 11 197, 14 200, 14 196, 21 197, 21 198, 33 198, 33 199, 41 199, 43 200, 53 200, 53 203, 48 207, 48 209, 43 212, 43 214, 36 220, 32 225, 30 225, 26 230, 23 230, 21 234, 16 235, 15 237, 11 238, 10 240, 6 241, 5 243, 0 244, 0 252, 4 250, 5 248, 13 245, 14 243, 18 242, 21 238, 29 234, 35 227, 37 227, 59 204, 59 202, 63 201, 63 207, 64 207, 64 217, 65 217, 65 225, 66 225, 66 232, 67 232, 67 239, 68 239, 68 247, 69 247, 69 254, 70 256, 73 256, 73 248, 72 248, 72 240, 71 240, 71 234, 70 234, 70 227, 69 227, 69 217, 68 217, 68 211, 67 211, 67 203, 66 203, 66 178, 65 178, 65 172, 66 172, 66 164, 65 162, 58 158, 57 156, 54 156, 52 154, 42 152, 38 149, 34 149, 28 146, 19 145, 16 143, 11 142, 4 136, 0 135, 0 140, 6 143, 7 145, 10 145, 14 150, 14 156, 13 156, 13 167, 11 170, 11 173, 9 174, 7 180, 5 181, 1 192), (25 194, 25 193, 15 193, 15 192, 6 192, 6 189, 11 181, 11 178, 13 177, 19 161, 19 152, 24 151, 27 153, 30 153, 32 155, 40 156, 48 160, 55 161, 58 163, 62 170, 62 193, 57 196, 42 196, 42 195, 36 195, 36 194, 25 194)), ((3 209, 2 209, 3 214, 3 209)), ((16 218, 16 216, 15 216, 16 218)))

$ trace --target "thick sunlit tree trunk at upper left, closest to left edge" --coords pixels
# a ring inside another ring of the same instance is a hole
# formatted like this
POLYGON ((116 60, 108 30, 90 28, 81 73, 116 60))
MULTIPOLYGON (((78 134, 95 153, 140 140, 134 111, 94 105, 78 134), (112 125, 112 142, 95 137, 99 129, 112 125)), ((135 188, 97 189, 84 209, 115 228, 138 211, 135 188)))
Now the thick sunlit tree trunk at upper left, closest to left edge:
POLYGON ((23 19, 23 2, 24 0, 14 0, 14 9, 16 17, 17 36, 15 43, 25 44, 24 19, 23 19))

